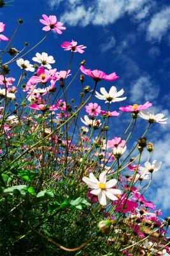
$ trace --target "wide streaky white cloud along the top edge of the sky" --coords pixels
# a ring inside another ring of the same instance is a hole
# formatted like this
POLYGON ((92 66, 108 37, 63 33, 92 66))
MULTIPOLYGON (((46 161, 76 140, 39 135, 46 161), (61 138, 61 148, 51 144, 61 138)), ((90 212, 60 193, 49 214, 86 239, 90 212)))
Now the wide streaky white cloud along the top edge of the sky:
MULTIPOLYGON (((63 0, 50 0, 51 8, 59 6, 63 0)), ((63 1, 66 10, 62 21, 69 26, 87 26, 88 24, 106 26, 113 24, 125 13, 135 14, 136 19, 143 19, 149 10, 150 0, 95 0, 88 3, 81 0, 63 1)))

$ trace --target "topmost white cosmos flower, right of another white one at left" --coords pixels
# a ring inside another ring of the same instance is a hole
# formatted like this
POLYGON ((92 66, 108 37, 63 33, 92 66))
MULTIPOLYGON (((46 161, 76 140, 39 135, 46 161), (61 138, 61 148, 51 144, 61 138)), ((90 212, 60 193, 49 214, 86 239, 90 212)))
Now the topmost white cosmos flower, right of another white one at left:
POLYGON ((37 52, 36 57, 32 58, 32 60, 41 63, 41 66, 48 69, 52 68, 50 64, 55 63, 55 60, 53 60, 53 56, 48 56, 46 52, 42 52, 41 54, 37 52))

